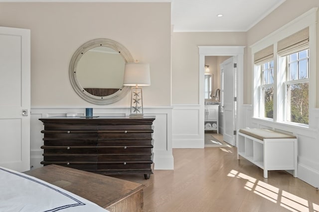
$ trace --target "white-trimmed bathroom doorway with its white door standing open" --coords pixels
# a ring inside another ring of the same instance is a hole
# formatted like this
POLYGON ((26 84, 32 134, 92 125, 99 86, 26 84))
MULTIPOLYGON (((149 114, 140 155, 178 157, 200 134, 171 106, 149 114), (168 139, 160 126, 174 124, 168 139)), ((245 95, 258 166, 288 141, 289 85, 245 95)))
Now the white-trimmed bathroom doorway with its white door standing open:
MULTIPOLYGON (((207 66, 209 66, 208 60, 205 60, 206 57, 215 56, 214 60, 216 60, 217 65, 214 65, 214 67, 218 67, 215 70, 215 74, 212 73, 212 99, 207 100, 205 95, 203 95, 204 86, 200 86, 199 89, 199 92, 202 92, 199 97, 202 97, 200 103, 203 104, 203 120, 205 121, 207 116, 206 107, 208 105, 218 105, 218 131, 223 135, 222 139, 232 146, 236 145, 235 131, 238 121, 236 114, 238 100, 241 99, 242 101, 243 81, 238 81, 238 79, 242 79, 243 75, 243 53, 243 46, 199 46, 199 70, 201 70, 199 84, 204 85, 204 75, 207 72, 207 66), (220 59, 219 62, 217 62, 218 58, 220 59)), ((205 137, 205 126, 203 131, 205 137)))

